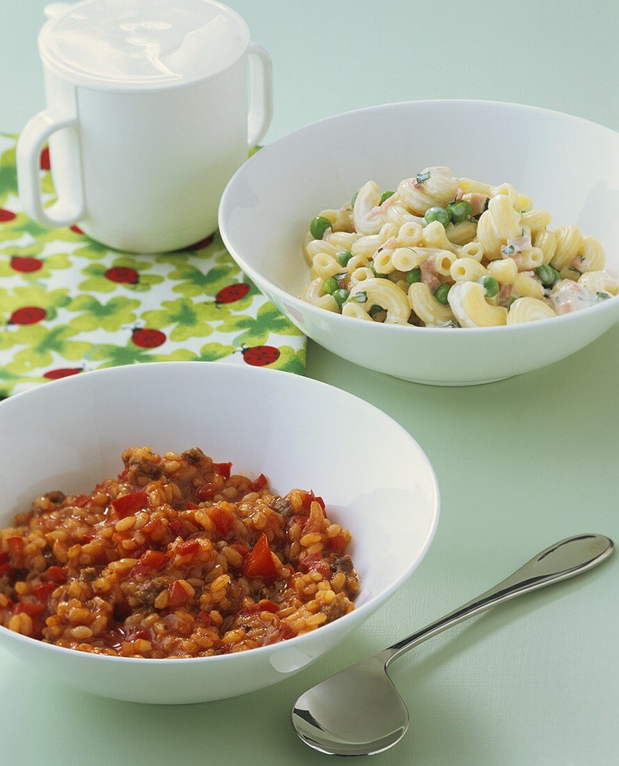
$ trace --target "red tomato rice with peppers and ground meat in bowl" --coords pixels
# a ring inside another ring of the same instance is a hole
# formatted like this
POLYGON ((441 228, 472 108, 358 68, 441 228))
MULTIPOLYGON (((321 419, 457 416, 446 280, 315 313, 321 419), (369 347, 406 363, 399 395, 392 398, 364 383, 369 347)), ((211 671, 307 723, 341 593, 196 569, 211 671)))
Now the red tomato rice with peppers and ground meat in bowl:
POLYGON ((0 530, 0 625, 84 652, 200 657, 286 640, 353 609, 350 533, 303 489, 198 448, 123 453, 90 495, 55 491, 0 530))

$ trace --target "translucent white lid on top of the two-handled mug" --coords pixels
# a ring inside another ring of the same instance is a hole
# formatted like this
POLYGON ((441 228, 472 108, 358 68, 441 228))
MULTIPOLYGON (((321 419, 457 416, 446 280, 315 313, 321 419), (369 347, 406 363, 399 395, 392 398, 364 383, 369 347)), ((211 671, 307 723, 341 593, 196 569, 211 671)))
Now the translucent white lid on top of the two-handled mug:
POLYGON ((64 79, 108 90, 162 90, 214 77, 249 44, 236 11, 213 0, 53 3, 38 38, 64 79))

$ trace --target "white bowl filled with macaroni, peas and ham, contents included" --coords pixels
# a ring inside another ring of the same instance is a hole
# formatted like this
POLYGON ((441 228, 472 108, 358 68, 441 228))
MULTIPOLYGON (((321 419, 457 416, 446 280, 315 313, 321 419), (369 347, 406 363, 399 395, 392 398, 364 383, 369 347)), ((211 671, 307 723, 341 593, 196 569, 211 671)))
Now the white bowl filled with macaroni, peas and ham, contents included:
POLYGON ((219 224, 329 351, 474 385, 556 362, 619 319, 617 204, 619 133, 532 106, 417 101, 273 142, 229 182, 219 224))

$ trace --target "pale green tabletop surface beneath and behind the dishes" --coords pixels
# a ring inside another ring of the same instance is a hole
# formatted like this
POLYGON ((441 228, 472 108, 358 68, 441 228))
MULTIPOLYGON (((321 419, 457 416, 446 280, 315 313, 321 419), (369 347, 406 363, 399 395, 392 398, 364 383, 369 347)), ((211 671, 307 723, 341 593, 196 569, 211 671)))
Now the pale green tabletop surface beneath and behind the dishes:
MULTIPOLYGON (((614 0, 470 0, 434 9, 406 0, 230 4, 273 54, 277 106, 267 139, 358 106, 433 97, 520 101, 619 126, 614 0)), ((0 0, 0 70, 3 77, 12 70, 2 82, 0 129, 17 131, 42 106, 34 37, 43 6, 0 0)), ((290 728, 290 706, 303 689, 467 600, 559 538, 586 531, 619 538, 619 326, 564 362, 478 388, 398 381, 313 344, 309 374, 395 417, 434 463, 441 522, 409 584, 316 665, 279 686, 210 705, 97 699, 2 652, 2 763, 324 763, 290 728)), ((413 725, 372 763, 617 763, 617 593, 619 559, 399 660, 393 677, 413 725)))

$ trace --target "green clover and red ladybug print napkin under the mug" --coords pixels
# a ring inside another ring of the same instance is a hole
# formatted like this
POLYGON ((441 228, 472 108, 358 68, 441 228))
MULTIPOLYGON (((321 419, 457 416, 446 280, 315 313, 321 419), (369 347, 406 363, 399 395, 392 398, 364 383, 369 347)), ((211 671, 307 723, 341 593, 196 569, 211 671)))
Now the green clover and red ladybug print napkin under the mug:
MULTIPOLYGON (((0 398, 137 362, 211 361, 305 372, 305 337, 244 276, 218 234, 188 250, 109 250, 19 207, 16 136, 0 134, 0 398)), ((47 149, 45 204, 54 201, 47 149)))

